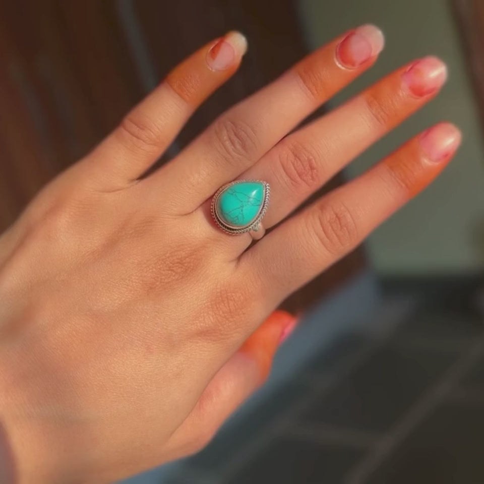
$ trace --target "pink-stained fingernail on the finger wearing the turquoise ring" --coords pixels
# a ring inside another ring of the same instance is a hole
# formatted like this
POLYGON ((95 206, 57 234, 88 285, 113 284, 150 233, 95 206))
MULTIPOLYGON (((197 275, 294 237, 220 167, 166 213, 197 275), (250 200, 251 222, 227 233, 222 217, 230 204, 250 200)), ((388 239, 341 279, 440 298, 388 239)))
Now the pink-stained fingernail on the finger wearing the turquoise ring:
POLYGON ((417 97, 437 92, 447 80, 447 66, 437 57, 429 56, 413 63, 403 74, 403 82, 417 97))

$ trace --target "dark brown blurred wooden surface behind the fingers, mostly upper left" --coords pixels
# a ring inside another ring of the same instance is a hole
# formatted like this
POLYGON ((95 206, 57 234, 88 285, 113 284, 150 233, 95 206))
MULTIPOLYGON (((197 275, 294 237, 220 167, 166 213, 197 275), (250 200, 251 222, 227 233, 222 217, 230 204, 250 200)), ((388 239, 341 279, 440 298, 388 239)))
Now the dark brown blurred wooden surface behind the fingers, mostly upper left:
MULTIPOLYGON (((307 53, 290 0, 0 0, 0 230, 171 67, 231 29, 249 38, 243 66, 193 116, 169 155, 307 53)), ((339 183, 335 177, 328 187, 339 183)), ((306 308, 364 264, 356 251, 287 307, 306 308)))

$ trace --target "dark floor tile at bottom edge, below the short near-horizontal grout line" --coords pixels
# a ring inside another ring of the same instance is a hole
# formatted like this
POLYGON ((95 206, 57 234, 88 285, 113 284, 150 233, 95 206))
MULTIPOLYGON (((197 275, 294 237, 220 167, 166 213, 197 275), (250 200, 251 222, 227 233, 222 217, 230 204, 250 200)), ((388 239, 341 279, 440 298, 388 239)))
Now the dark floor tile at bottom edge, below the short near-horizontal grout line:
POLYGON ((347 447, 279 437, 229 484, 335 484, 360 457, 360 451, 347 447))

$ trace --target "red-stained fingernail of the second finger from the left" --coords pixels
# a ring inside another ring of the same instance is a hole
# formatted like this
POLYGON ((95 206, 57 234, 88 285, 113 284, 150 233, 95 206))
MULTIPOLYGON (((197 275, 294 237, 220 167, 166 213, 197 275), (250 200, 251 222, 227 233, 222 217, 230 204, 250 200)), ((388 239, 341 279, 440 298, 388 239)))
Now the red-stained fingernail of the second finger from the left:
POLYGON ((354 69, 378 55, 385 45, 383 32, 374 25, 363 25, 350 32, 336 48, 343 67, 354 69))

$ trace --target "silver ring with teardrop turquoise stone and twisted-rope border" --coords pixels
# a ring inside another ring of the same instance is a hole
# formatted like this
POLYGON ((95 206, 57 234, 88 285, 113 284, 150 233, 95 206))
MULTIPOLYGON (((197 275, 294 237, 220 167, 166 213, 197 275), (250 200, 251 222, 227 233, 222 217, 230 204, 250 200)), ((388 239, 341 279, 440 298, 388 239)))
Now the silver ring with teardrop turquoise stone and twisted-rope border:
POLYGON ((212 217, 226 233, 249 232, 258 240, 264 235, 261 220, 269 205, 267 181, 238 180, 221 187, 212 199, 212 217))

